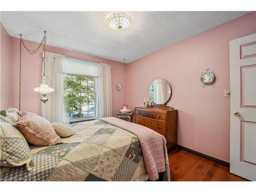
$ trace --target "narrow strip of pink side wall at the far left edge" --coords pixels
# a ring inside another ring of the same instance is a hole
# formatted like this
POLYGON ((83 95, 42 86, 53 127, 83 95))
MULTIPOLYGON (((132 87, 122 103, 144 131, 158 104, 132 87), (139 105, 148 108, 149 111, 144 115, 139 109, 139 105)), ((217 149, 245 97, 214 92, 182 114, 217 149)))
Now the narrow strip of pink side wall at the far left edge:
POLYGON ((10 73, 12 70, 12 63, 11 63, 11 37, 5 30, 4 26, 1 24, 1 77, 0 77, 0 109, 6 109, 11 106, 11 95, 12 95, 12 76, 10 73))

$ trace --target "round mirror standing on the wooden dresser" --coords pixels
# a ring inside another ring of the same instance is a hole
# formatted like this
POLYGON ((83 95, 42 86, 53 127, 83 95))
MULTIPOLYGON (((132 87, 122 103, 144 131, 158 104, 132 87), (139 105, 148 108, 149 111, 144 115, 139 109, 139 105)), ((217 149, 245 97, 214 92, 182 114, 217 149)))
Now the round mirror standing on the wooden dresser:
POLYGON ((156 104, 166 103, 171 94, 172 89, 170 89, 170 85, 166 80, 157 79, 150 84, 149 95, 156 104))

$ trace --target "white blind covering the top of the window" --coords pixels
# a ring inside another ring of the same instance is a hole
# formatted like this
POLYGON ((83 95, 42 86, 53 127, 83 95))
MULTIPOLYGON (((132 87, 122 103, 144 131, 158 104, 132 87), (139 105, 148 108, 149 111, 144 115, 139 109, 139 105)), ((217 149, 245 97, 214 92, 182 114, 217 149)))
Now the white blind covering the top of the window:
POLYGON ((66 65, 63 67, 63 73, 86 75, 91 77, 99 76, 98 63, 65 57, 65 64, 66 65))

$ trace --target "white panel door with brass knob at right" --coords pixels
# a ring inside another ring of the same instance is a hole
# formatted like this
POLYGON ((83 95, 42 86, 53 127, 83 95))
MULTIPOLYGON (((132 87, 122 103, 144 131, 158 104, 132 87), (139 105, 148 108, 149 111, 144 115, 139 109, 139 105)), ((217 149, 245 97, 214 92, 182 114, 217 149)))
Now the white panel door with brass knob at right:
POLYGON ((256 33, 229 48, 230 173, 256 181, 256 33))

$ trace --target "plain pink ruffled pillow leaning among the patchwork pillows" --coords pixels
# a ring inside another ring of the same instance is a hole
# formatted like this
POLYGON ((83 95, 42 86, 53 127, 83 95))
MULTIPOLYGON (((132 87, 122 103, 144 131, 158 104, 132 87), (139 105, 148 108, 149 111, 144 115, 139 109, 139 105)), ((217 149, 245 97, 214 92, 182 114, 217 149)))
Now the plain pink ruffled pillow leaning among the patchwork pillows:
POLYGON ((61 143, 51 123, 39 115, 20 112, 16 127, 23 133, 28 142, 36 146, 49 146, 61 143))

